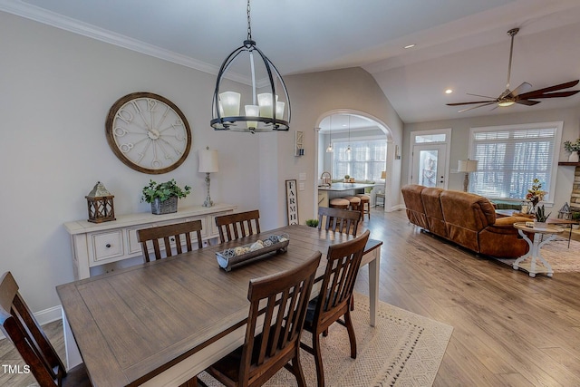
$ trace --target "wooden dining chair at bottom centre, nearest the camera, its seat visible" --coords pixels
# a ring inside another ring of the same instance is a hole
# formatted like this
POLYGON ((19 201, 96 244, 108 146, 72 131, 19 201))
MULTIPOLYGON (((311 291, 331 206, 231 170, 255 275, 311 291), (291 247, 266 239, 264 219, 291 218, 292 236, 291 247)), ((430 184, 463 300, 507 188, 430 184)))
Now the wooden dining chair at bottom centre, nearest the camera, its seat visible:
POLYGON ((285 367, 298 386, 306 385, 300 337, 321 256, 316 252, 292 270, 250 281, 245 342, 206 372, 227 386, 260 386, 285 367))

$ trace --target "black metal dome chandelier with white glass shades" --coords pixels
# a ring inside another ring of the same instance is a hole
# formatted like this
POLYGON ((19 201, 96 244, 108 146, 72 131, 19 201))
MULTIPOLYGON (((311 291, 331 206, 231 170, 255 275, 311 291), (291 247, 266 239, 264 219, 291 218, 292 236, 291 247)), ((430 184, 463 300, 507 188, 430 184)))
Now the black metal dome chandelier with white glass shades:
POLYGON ((230 53, 218 73, 216 91, 212 102, 211 127, 216 131, 246 131, 249 133, 263 131, 288 131, 290 128, 290 99, 282 76, 264 53, 252 40, 250 25, 250 1, 247 0, 247 40, 244 45, 230 53), (257 53, 257 55, 255 55, 257 53), (262 59, 254 61, 254 57, 262 59), (252 80, 251 96, 242 96, 239 92, 221 91, 224 74, 241 63, 240 58, 247 57, 249 74, 252 80), (260 65, 263 63, 263 66, 260 65), (257 67, 257 69, 256 69, 257 67), (256 81, 256 70, 264 73, 265 84, 260 87, 256 81), (259 88, 259 93, 258 93, 259 88), (243 105, 242 105, 243 103, 243 105), (244 113, 240 114, 240 106, 244 113))

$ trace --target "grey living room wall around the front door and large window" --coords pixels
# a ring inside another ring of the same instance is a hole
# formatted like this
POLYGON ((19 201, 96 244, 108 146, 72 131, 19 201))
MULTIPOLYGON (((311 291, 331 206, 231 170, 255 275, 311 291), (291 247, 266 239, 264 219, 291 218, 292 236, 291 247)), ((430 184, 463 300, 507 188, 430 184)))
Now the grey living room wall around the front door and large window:
MULTIPOLYGON (((508 108, 507 108, 508 109, 508 108)), ((482 110, 485 110, 483 108, 482 110)), ((529 111, 524 113, 507 113, 499 115, 481 116, 475 118, 458 118, 456 120, 430 121, 420 123, 407 123, 404 126, 403 150, 409 149, 411 141, 411 131, 428 131, 432 129, 451 128, 451 147, 450 147, 450 168, 457 169, 458 160, 465 160, 469 152, 469 129, 472 127, 515 125, 534 122, 551 122, 564 121, 562 132, 562 143, 559 147, 560 161, 566 161, 568 153, 564 150, 564 141, 580 138, 580 109, 557 109, 557 110, 537 110, 530 107, 529 111)), ((402 184, 409 182, 409 156, 403 152, 402 155, 402 184)), ((550 192, 554 195, 554 207, 550 209, 553 216, 565 202, 570 202, 570 193, 572 192, 572 183, 574 181, 574 167, 560 166, 557 168, 556 175, 556 192, 550 192), (554 212, 556 211, 556 212, 554 212)), ((449 189, 463 189, 463 173, 449 173, 449 189)))

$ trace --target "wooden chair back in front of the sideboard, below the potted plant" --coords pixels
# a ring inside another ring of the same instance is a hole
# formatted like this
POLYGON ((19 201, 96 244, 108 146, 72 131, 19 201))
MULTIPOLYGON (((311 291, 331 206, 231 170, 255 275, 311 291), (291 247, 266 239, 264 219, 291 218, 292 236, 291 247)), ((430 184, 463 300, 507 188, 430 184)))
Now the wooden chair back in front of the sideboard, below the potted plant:
POLYGON ((141 244, 145 262, 151 259, 160 259, 161 244, 165 248, 165 256, 172 256, 171 246, 174 245, 177 254, 193 250, 191 233, 195 232, 198 237, 198 248, 203 247, 201 240, 201 220, 192 220, 185 223, 175 223, 167 226, 141 228, 137 230, 137 240, 141 244), (162 241, 160 243, 160 240, 162 241), (148 243, 150 242, 150 244, 148 243), (183 243, 185 242, 185 246, 183 243), (150 253, 149 245, 153 246, 153 254, 150 253))

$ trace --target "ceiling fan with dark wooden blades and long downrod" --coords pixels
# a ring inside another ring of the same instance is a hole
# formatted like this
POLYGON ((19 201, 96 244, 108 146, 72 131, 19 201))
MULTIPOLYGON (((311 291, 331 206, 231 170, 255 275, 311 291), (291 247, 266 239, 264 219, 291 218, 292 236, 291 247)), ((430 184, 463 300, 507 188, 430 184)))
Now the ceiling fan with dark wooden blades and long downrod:
MULTIPOLYGON (((463 109, 458 111, 459 113, 462 111, 470 111, 471 109, 481 108, 483 106, 497 104, 498 106, 511 106, 514 103, 519 103, 522 105, 533 106, 536 103, 541 101, 534 101, 541 98, 560 98, 560 97, 569 97, 574 95, 580 90, 573 90, 568 92, 557 92, 562 89, 567 89, 570 87, 574 87, 578 84, 579 80, 565 82, 556 84, 554 86, 546 87, 544 89, 538 89, 535 91, 530 92, 529 90, 532 88, 532 85, 528 82, 523 82, 519 86, 517 86, 514 90, 509 90, 509 76, 511 74, 511 58, 514 52, 514 36, 519 31, 519 28, 512 28, 511 30, 507 31, 507 34, 511 36, 511 46, 509 47, 509 64, 507 66, 507 86, 505 92, 499 94, 498 98, 488 97, 487 95, 478 95, 478 94, 469 94, 474 95, 476 97, 484 97, 489 98, 488 101, 473 101, 473 102, 456 102, 456 103, 448 103, 449 106, 460 106, 460 105, 470 105, 474 103, 478 103, 478 106, 472 106, 467 109, 463 109)), ((496 106, 497 107, 497 106, 496 106)), ((493 109, 495 109, 494 107, 493 109)))

